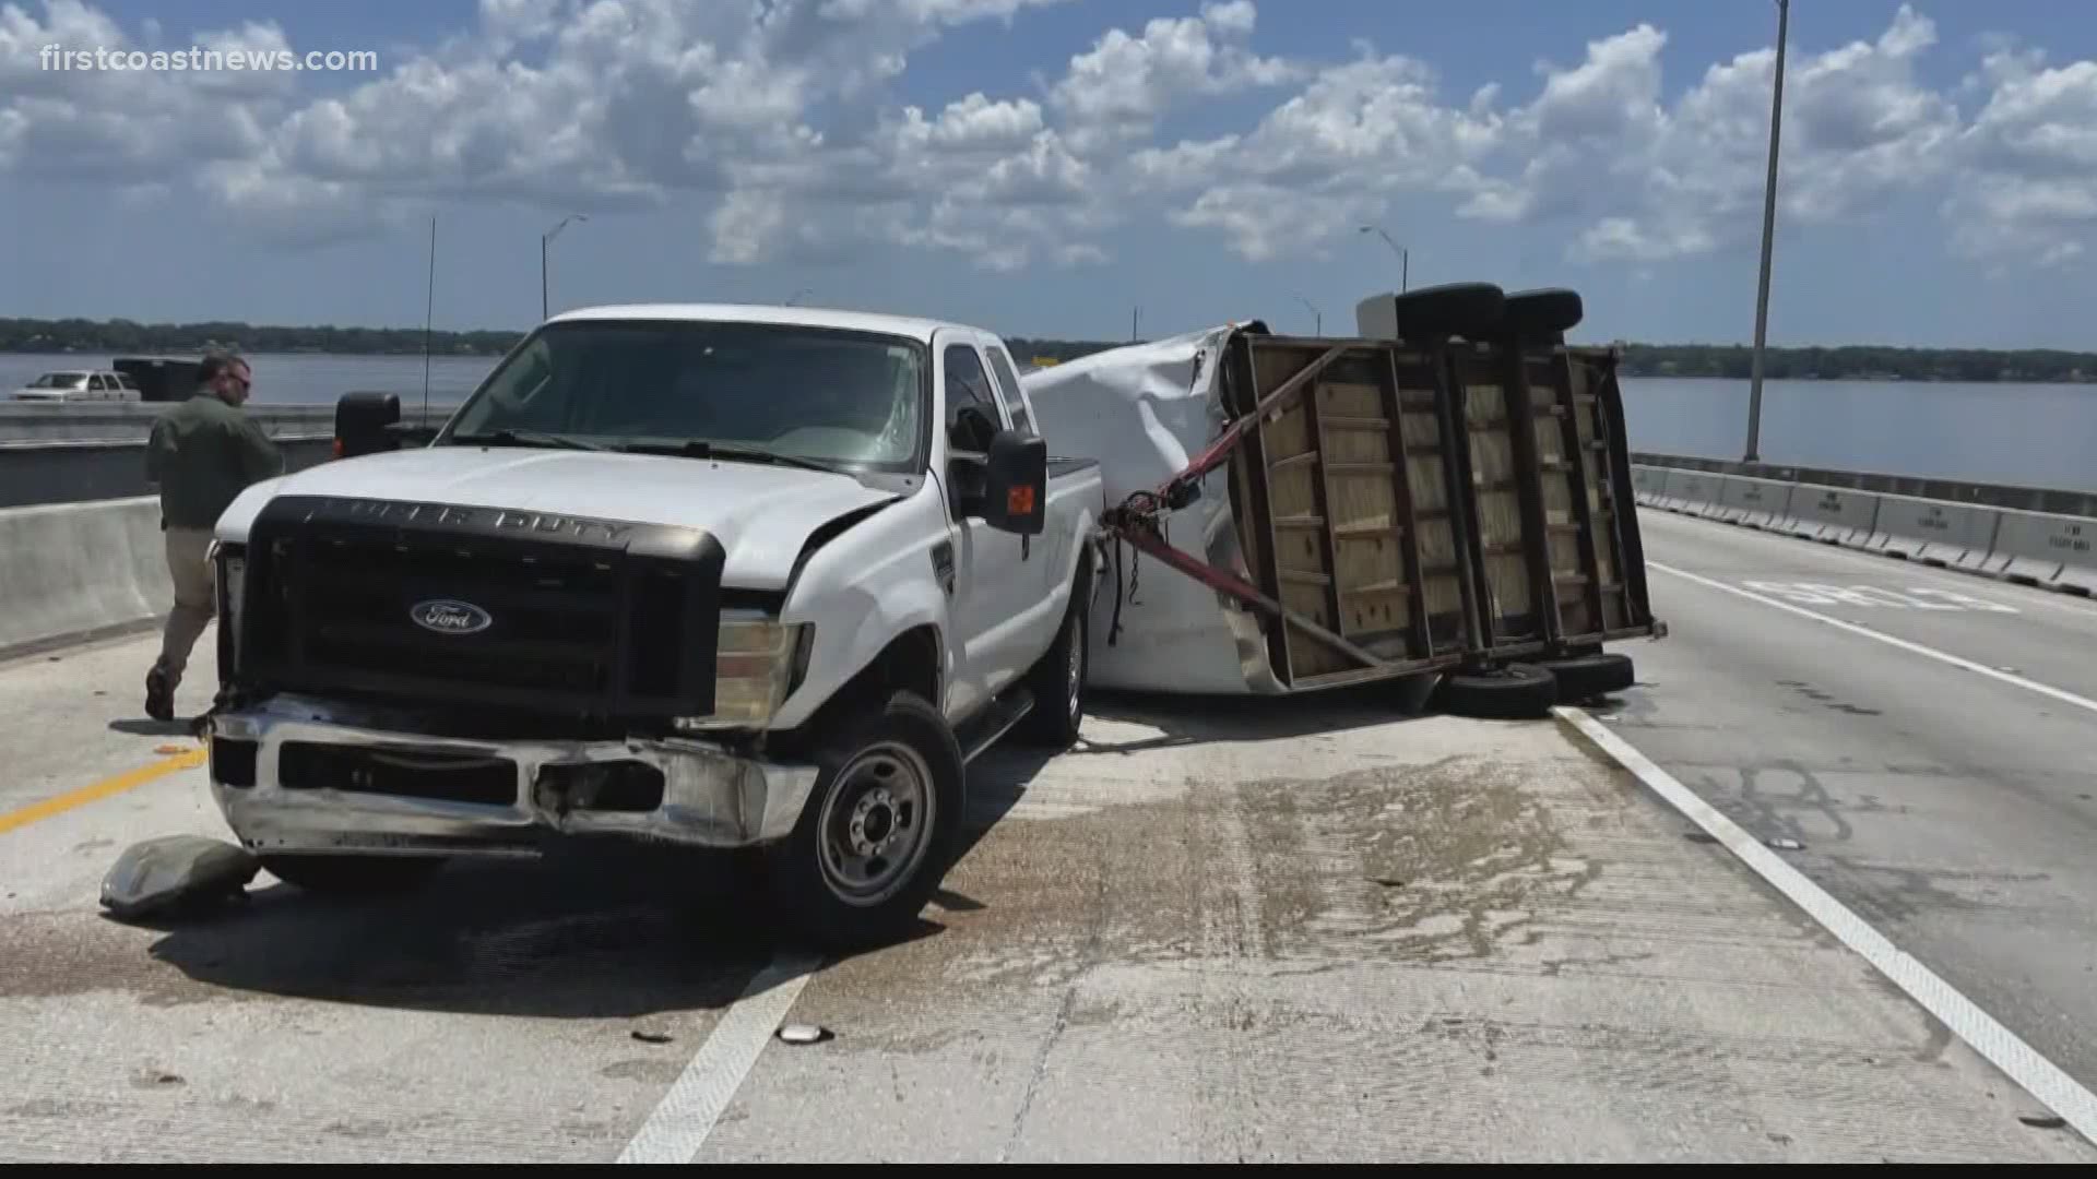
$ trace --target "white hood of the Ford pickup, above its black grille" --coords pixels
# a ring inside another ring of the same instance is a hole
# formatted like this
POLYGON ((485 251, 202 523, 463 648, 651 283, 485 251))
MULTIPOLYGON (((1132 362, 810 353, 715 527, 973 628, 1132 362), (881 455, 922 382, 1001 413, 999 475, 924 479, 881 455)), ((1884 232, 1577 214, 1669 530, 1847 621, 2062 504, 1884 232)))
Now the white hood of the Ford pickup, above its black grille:
POLYGON ((780 590, 809 533, 860 508, 898 499, 845 474, 751 462, 593 451, 424 447, 323 462, 258 483, 218 518, 245 541, 279 495, 516 508, 637 524, 705 529, 728 550, 723 585, 780 590))

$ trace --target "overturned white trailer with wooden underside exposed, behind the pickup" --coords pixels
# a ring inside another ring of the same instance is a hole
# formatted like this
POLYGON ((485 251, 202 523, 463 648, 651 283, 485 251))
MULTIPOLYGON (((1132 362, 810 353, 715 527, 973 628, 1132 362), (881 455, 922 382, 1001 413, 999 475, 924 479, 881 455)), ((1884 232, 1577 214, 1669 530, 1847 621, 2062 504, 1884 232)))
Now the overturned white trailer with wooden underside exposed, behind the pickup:
POLYGON ((1090 678, 1279 694, 1445 676, 1529 715, 1629 686, 1659 638, 1617 355, 1573 292, 1374 296, 1355 338, 1229 323, 1023 378, 1097 457, 1114 533, 1090 678))

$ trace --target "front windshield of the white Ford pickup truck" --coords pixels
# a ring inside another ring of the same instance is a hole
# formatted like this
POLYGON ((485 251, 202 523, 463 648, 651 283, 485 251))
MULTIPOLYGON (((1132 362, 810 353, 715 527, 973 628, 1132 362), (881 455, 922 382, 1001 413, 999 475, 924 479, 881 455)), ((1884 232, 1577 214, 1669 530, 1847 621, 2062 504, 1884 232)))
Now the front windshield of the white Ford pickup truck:
POLYGON ((898 336, 570 321, 537 331, 497 365, 436 445, 501 436, 505 445, 759 451, 906 470, 921 462, 929 394, 925 346, 898 336))

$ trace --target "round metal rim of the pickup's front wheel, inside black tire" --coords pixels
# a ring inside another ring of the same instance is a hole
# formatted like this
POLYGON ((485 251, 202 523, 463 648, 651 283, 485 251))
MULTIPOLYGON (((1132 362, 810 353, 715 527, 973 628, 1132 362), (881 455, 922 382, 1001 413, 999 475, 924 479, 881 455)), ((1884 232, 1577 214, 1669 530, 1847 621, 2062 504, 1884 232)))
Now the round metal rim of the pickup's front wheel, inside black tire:
POLYGON ((839 770, 820 816, 822 879, 833 896, 872 906, 916 875, 937 818, 931 780, 931 766, 893 741, 862 749, 839 770))

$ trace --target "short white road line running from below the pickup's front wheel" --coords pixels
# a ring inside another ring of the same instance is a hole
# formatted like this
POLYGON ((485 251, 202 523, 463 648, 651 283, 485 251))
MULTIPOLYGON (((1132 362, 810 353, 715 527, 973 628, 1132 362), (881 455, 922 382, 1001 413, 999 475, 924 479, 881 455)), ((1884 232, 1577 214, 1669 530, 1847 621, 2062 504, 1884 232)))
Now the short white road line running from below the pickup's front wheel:
POLYGON ((677 1082, 656 1103, 633 1141, 619 1152, 619 1162, 692 1162, 707 1145, 713 1124, 728 1112, 736 1089, 765 1051, 772 1032, 801 996, 816 959, 772 959, 751 978, 742 996, 728 1005, 707 1043, 692 1053, 677 1082))

